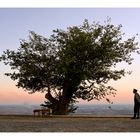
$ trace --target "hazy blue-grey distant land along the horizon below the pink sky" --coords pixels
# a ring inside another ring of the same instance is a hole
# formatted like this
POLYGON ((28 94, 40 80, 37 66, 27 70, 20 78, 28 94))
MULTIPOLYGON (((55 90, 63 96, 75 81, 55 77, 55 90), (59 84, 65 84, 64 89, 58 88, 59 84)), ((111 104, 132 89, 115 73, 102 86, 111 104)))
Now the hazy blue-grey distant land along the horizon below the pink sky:
MULTIPOLYGON (((72 115, 99 115, 99 116, 115 116, 115 115, 132 115, 133 105, 77 105, 77 111, 72 115)), ((0 115, 32 115, 34 109, 41 108, 39 105, 0 105, 0 115)))

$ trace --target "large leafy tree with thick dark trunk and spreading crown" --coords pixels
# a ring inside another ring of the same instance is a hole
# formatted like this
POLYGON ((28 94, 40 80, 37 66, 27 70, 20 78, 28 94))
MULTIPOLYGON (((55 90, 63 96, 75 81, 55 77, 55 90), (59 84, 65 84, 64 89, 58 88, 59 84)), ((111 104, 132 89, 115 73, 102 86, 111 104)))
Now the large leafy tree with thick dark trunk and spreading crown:
POLYGON ((13 70, 6 75, 17 81, 17 87, 44 92, 57 114, 67 114, 69 104, 80 98, 106 98, 116 93, 108 81, 127 73, 116 65, 131 64, 131 53, 139 49, 135 36, 123 39, 121 27, 85 20, 66 31, 54 30, 49 38, 31 31, 17 51, 6 50, 1 56, 13 70))

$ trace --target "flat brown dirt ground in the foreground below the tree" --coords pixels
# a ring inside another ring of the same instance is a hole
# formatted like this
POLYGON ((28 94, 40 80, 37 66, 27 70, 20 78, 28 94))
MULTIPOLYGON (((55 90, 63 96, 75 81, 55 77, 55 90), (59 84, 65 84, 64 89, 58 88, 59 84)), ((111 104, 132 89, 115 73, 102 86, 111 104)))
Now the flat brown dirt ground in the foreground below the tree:
POLYGON ((130 117, 0 116, 0 132, 140 132, 130 117))

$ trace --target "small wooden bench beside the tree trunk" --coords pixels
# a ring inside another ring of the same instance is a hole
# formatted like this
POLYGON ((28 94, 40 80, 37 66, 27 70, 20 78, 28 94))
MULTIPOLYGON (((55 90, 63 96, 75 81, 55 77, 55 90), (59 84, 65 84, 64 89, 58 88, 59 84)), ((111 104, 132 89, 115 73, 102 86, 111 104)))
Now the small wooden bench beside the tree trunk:
POLYGON ((45 116, 50 116, 52 115, 52 109, 50 108, 47 108, 47 109, 35 109, 33 110, 33 113, 34 113, 34 116, 42 116, 42 117, 45 117, 45 116))

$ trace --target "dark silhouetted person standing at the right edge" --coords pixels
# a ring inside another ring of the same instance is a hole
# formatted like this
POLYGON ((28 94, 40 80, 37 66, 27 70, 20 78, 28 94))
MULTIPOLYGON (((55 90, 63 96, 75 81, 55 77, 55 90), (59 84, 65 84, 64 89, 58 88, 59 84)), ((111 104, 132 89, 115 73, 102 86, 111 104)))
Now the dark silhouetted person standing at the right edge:
POLYGON ((140 95, 137 93, 137 89, 133 89, 133 93, 134 93, 134 116, 132 119, 139 119, 140 95))

